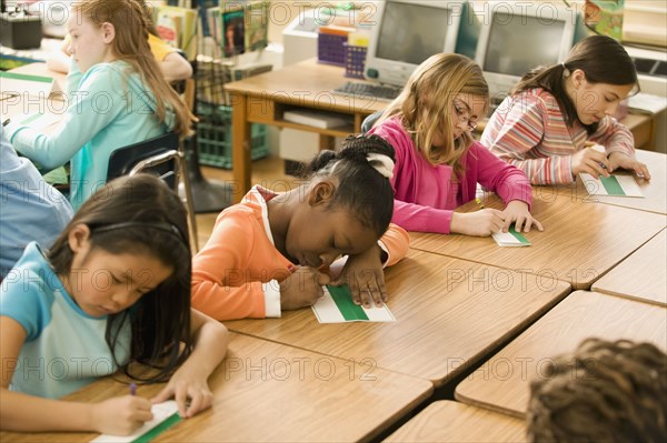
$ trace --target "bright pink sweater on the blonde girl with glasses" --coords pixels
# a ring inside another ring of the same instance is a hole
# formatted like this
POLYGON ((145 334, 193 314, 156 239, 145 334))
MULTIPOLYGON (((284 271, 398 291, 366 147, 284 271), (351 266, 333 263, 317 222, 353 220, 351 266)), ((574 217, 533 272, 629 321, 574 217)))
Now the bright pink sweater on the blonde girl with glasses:
POLYGON ((477 183, 496 192, 505 203, 520 200, 530 207, 532 189, 524 172, 478 142, 464 154, 464 177, 458 182, 452 180, 451 167, 434 165, 424 158, 399 118, 385 121, 370 133, 382 137, 396 150, 391 221, 408 231, 448 234, 454 209, 475 199, 477 183))

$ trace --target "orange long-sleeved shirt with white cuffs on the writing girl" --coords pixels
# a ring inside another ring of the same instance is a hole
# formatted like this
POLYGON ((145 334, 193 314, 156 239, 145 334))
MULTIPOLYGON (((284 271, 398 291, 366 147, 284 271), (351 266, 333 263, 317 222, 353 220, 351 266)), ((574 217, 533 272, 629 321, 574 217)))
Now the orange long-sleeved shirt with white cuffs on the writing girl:
MULTIPOLYGON (((218 215, 208 242, 192 261, 192 308, 217 320, 280 316, 280 288, 296 265, 273 245, 266 197, 255 187, 218 215)), ((380 239, 386 265, 408 252, 408 233, 391 224, 380 239)))

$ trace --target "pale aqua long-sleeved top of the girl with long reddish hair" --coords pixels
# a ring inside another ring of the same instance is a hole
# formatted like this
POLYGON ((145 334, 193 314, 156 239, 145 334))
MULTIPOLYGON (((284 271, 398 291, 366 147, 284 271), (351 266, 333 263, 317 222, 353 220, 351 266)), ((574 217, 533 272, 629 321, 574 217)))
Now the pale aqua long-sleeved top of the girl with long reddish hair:
POLYGON ((68 74, 68 107, 51 134, 18 122, 7 127, 14 149, 40 168, 51 170, 71 161, 70 202, 78 209, 107 182, 111 152, 163 134, 152 92, 123 61, 98 63, 84 74, 72 61, 68 74))

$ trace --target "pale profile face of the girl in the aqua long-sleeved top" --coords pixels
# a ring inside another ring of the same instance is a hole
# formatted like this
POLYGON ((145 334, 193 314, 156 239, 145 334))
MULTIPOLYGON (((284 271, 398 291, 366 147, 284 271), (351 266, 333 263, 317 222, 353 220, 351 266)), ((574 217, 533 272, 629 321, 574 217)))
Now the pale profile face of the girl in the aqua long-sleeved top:
POLYGON ((72 13, 67 27, 71 37, 69 51, 73 54, 81 73, 86 73, 97 63, 108 61, 110 42, 113 40, 109 36, 109 23, 97 27, 80 13, 72 13))

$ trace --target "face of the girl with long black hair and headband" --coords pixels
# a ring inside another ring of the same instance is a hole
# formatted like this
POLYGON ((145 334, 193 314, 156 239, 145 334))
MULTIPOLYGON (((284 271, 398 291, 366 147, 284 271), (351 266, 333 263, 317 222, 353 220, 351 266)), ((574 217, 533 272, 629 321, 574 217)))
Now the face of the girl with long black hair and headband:
POLYGON ((70 234, 70 248, 74 254, 66 288, 79 308, 91 316, 130 308, 173 272, 150 254, 111 254, 101 248, 91 249, 86 234, 73 239, 70 234))

